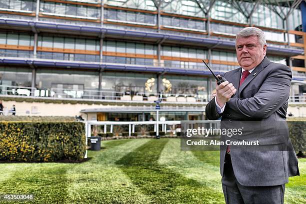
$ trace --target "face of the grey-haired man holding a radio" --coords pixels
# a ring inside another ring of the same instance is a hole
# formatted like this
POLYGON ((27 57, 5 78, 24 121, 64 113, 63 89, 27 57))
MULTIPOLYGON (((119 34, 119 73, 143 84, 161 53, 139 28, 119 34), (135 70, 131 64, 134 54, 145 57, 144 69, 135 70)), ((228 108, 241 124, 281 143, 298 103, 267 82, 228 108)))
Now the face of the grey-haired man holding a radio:
POLYGON ((237 37, 236 54, 239 65, 245 70, 257 66, 266 53, 266 45, 260 45, 257 36, 237 37))

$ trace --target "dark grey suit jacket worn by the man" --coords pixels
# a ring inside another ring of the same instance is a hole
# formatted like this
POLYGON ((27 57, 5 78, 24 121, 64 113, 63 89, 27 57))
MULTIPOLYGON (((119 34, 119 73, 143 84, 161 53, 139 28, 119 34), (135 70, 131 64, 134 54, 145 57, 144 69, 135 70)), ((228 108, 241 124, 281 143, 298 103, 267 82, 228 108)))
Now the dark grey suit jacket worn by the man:
MULTIPOLYGON (((232 136, 230 139, 258 140, 259 146, 262 147, 249 149, 230 146, 232 167, 240 184, 284 184, 288 182, 289 176, 299 175, 297 158, 286 124, 291 70, 264 57, 239 87, 241 70, 239 67, 224 74, 224 77, 237 88, 236 94, 226 102, 224 112, 216 112, 215 100, 212 98, 206 105, 206 116, 212 120, 222 116, 221 128, 243 126, 243 134, 232 136), (279 147, 282 149, 279 150, 279 147)), ((227 135, 221 135, 221 141, 228 138, 227 135)), ((226 146, 220 146, 221 175, 226 146)))

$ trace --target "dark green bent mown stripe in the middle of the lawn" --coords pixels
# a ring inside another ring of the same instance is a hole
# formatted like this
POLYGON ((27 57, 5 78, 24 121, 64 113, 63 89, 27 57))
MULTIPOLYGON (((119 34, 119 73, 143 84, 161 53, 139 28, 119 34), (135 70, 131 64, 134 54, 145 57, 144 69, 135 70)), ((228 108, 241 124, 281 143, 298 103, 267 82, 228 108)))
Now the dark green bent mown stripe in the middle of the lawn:
POLYGON ((170 139, 152 139, 116 162, 153 203, 222 203, 222 193, 158 163, 170 139))

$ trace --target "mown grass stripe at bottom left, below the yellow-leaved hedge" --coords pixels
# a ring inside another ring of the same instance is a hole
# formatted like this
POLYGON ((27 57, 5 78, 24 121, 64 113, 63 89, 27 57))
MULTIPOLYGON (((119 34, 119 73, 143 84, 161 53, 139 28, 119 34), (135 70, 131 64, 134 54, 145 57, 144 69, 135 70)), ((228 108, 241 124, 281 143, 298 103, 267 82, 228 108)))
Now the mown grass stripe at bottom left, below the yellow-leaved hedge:
MULTIPOLYGON (((66 203, 66 171, 73 164, 31 163, 0 182, 0 193, 34 194, 34 203, 66 203)), ((1 201, 0 203, 4 203, 1 201)))

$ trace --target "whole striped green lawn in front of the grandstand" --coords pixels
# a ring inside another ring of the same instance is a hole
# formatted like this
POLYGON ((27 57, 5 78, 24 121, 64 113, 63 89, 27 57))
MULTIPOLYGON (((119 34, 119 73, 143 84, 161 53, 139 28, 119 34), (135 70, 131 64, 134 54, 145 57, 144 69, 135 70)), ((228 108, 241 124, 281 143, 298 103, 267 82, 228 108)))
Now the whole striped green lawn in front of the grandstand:
MULTIPOLYGON (((34 203, 224 203, 219 152, 180 151, 179 139, 102 142, 82 163, 0 163, 0 194, 34 203)), ((306 159, 285 203, 306 203, 306 159)), ((0 203, 4 203, 3 201, 0 203)))

